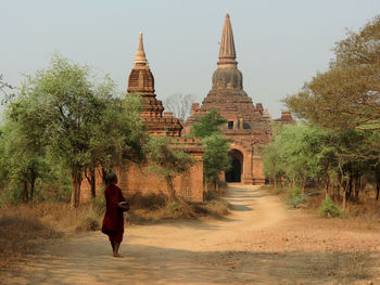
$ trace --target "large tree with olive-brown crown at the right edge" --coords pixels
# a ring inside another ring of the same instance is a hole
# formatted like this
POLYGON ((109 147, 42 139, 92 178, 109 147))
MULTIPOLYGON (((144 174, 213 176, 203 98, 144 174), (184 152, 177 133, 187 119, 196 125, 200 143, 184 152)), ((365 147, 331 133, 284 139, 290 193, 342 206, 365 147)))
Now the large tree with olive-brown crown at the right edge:
POLYGON ((364 178, 380 185, 380 17, 349 33, 334 53, 326 73, 284 102, 300 118, 326 128, 326 189, 338 189, 344 207, 358 198, 364 178))

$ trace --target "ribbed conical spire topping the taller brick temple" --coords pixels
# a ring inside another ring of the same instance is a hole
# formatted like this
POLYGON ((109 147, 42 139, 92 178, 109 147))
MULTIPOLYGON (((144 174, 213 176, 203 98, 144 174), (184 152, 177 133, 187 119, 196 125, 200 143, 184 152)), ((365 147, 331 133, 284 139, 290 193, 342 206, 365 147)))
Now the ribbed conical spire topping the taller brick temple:
POLYGON ((236 57, 232 27, 229 21, 229 14, 227 14, 221 33, 218 65, 236 67, 236 57))

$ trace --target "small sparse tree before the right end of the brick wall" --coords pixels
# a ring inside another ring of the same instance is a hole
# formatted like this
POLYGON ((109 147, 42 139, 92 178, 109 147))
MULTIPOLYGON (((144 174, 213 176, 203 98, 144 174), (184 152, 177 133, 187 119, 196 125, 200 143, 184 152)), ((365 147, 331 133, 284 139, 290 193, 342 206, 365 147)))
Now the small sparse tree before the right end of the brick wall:
POLYGON ((168 200, 177 202, 174 179, 178 174, 188 171, 194 164, 194 158, 188 153, 175 150, 175 145, 169 143, 164 138, 151 137, 149 143, 151 169, 165 179, 168 200))

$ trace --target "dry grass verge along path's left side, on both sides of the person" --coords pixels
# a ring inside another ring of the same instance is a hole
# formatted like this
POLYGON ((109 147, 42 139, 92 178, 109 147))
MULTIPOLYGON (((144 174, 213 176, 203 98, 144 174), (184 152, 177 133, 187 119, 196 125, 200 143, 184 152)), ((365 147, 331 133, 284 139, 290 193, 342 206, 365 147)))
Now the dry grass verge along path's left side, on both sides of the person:
MULTIPOLYGON (((129 198, 129 222, 134 224, 157 223, 168 219, 197 219, 228 215, 229 205, 219 199, 201 204, 167 203, 162 195, 129 198)), ((9 206, 0 209, 0 269, 31 254, 36 245, 61 237, 64 233, 100 230, 105 203, 102 196, 94 202, 73 209, 67 203, 45 202, 9 206)))

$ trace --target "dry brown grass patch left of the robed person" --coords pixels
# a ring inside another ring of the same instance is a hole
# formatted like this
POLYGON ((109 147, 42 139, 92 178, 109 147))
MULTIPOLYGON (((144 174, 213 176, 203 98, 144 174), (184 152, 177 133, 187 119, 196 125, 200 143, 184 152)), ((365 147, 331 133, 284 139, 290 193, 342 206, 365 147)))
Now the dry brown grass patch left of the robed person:
POLYGON ((102 217, 93 207, 73 209, 67 203, 45 202, 0 209, 0 268, 64 233, 99 230, 102 217))

